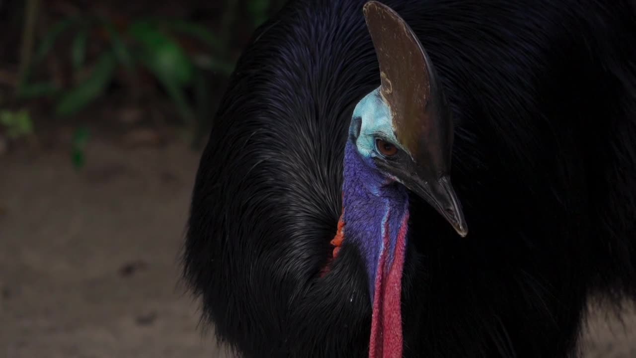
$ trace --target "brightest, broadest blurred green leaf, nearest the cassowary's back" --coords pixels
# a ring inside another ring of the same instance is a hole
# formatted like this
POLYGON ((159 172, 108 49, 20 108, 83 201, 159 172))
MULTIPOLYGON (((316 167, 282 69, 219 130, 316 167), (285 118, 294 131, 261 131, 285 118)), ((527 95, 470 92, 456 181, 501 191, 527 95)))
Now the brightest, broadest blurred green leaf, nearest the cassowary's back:
POLYGON ((142 45, 140 60, 157 78, 178 85, 193 80, 193 65, 176 41, 148 22, 137 22, 131 36, 142 45))

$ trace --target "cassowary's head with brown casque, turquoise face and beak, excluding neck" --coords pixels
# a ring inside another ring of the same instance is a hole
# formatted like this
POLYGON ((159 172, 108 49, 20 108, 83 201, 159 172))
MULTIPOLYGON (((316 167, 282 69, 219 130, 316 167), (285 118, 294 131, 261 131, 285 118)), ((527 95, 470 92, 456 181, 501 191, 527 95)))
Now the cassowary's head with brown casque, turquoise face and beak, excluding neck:
POLYGON ((350 138, 372 169, 425 199, 466 236, 464 215, 450 182, 451 112, 431 61, 391 8, 370 1, 364 16, 382 85, 357 104, 350 138))

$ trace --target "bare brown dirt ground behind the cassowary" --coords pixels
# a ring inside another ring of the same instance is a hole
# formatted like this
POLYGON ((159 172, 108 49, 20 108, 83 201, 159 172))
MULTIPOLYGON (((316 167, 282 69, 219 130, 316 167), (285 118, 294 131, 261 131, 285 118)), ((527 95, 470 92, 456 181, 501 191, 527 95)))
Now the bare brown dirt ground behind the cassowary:
MULTIPOLYGON (((179 284, 198 164, 186 145, 93 140, 75 171, 66 148, 0 156, 0 357, 226 357, 179 284)), ((596 310, 585 357, 636 357, 596 310)))

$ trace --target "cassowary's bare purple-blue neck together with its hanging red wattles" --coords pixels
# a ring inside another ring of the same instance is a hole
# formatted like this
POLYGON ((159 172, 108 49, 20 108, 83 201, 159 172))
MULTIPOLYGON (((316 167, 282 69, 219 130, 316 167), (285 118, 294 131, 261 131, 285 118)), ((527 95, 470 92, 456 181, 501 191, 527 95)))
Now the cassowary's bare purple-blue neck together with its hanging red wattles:
POLYGON ((401 357, 408 194, 361 157, 351 141, 345 148, 343 192, 344 235, 366 262, 373 300, 369 356, 401 357))

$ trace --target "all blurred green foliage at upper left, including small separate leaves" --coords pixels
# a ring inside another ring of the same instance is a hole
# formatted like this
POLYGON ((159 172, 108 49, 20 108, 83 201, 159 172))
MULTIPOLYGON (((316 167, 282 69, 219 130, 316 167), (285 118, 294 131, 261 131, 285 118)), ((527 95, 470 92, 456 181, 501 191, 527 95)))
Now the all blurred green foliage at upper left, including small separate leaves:
MULTIPOLYGON (((278 6, 273 4, 278 1, 272 0, 244 1, 254 27, 265 22, 272 6, 278 6)), ((197 141, 197 131, 204 129, 212 117, 210 107, 214 103, 206 73, 227 77, 234 69, 231 28, 239 3, 240 0, 225 1, 221 29, 215 32, 202 24, 177 19, 136 18, 122 29, 114 25, 112 19, 90 13, 62 18, 45 31, 34 47, 34 54, 27 59, 17 87, 17 99, 48 97, 55 102, 55 115, 69 117, 102 96, 121 73, 118 69, 137 76, 136 70, 142 68, 160 83, 179 117, 193 131, 190 138, 197 141), (100 38, 96 39, 95 34, 101 35, 100 38), (62 36, 71 38, 68 45, 60 40, 62 36), (204 50, 195 54, 186 51, 179 41, 183 36, 202 44, 204 50), (100 52, 95 54, 93 48, 100 44, 100 52), (70 66, 66 67, 73 71, 70 88, 60 87, 52 79, 32 80, 33 69, 43 68, 43 62, 59 46, 68 47, 65 53, 70 66), (193 98, 186 95, 188 90, 193 98)), ((32 131, 31 117, 25 111, 2 111, 0 120, 10 136, 32 131)), ((88 137, 88 130, 83 127, 73 136, 71 156, 76 168, 84 165, 88 137)))

